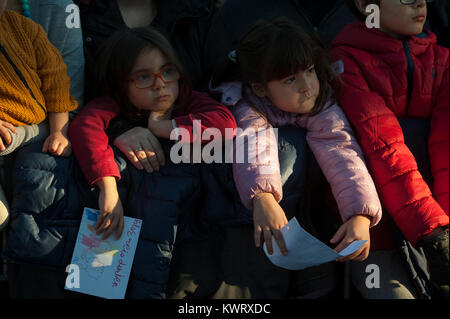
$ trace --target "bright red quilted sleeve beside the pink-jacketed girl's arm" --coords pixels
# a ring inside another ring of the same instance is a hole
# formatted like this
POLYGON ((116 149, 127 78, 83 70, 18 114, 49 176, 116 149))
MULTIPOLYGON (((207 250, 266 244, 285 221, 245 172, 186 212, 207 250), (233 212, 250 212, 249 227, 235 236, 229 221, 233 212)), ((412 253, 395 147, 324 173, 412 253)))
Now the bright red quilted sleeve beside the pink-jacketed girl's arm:
POLYGON ((345 52, 331 52, 344 63, 341 107, 353 124, 381 202, 403 235, 416 244, 448 216, 431 194, 406 146, 403 131, 384 99, 367 85, 357 62, 345 52))

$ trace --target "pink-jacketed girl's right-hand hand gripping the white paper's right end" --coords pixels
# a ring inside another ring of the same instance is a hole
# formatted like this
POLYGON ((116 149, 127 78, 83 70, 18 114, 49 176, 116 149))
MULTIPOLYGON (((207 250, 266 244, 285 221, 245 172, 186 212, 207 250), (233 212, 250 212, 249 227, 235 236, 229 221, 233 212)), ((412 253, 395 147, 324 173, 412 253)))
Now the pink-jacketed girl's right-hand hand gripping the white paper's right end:
POLYGON ((355 240, 367 240, 367 242, 355 251, 353 254, 337 259, 338 261, 354 260, 363 261, 369 256, 370 250, 370 218, 365 215, 355 215, 350 218, 331 238, 332 244, 339 244, 334 248, 336 252, 340 252, 355 240))

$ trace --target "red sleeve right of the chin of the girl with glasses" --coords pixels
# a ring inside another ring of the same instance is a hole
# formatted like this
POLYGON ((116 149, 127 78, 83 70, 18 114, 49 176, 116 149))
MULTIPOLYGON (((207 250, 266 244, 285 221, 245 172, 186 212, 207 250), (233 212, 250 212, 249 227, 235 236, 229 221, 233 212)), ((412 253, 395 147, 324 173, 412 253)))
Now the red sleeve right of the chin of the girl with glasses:
POLYGON ((190 143, 199 139, 201 143, 211 141, 213 135, 205 134, 206 138, 202 138, 205 131, 211 134, 213 131, 220 133, 222 141, 233 139, 233 132, 236 130, 236 121, 230 110, 207 93, 192 92, 185 115, 173 120, 177 129, 184 129, 189 133, 190 143))

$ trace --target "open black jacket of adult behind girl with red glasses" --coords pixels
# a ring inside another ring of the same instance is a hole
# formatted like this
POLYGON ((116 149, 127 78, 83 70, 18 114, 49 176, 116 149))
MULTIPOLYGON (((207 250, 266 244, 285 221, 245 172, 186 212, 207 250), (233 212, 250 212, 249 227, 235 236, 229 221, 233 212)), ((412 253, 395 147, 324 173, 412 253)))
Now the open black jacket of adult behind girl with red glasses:
MULTIPOLYGON (((90 89, 95 52, 111 34, 127 26, 116 1, 74 2, 81 10, 86 58, 86 100, 89 101, 95 95, 90 89)), ((192 87, 197 90, 205 88, 203 47, 215 12, 215 0, 164 0, 157 1, 157 5, 158 14, 152 26, 173 44, 192 87)))

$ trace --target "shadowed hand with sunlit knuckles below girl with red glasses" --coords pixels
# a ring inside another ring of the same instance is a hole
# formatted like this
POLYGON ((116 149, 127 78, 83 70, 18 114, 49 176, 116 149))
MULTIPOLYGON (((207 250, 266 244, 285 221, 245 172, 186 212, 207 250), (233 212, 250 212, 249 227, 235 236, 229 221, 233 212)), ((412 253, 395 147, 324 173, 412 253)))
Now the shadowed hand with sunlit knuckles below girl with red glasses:
POLYGON ((145 169, 152 173, 159 171, 165 164, 161 144, 155 135, 144 127, 134 127, 123 133, 114 140, 114 145, 139 170, 145 169))

